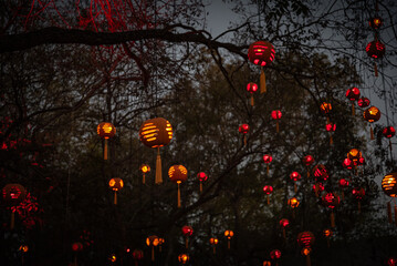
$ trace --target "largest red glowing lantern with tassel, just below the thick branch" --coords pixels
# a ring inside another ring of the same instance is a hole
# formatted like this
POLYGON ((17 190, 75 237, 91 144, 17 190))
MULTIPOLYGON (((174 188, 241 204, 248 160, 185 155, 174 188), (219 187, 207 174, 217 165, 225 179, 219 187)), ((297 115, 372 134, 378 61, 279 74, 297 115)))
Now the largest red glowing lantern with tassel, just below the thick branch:
POLYGON ((267 41, 257 41, 248 49, 248 59, 257 65, 261 65, 260 86, 261 93, 267 92, 267 80, 264 76, 263 66, 273 62, 275 51, 273 45, 267 41))

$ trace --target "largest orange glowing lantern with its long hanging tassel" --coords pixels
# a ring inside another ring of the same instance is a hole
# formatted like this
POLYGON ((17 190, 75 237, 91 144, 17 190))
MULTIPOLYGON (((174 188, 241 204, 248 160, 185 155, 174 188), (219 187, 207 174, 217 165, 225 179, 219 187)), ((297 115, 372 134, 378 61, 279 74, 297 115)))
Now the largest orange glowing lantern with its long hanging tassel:
POLYGON ((160 147, 171 141, 173 126, 163 117, 147 120, 140 125, 139 139, 146 146, 157 147, 155 183, 160 184, 163 183, 160 147))

